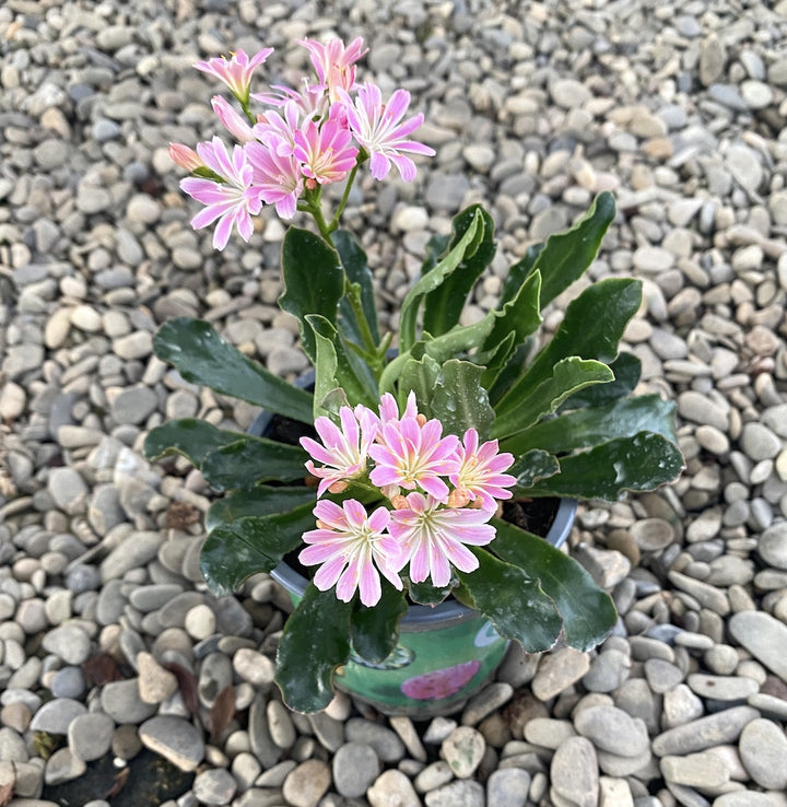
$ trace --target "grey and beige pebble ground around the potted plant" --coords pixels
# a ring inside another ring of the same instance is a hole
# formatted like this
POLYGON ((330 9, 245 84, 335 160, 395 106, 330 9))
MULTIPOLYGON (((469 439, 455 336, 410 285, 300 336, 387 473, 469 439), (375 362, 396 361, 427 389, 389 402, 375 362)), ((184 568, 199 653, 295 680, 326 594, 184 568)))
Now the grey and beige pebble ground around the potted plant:
POLYGON ((785 0, 4 0, 0 804, 785 807, 786 42, 785 0), (668 490, 580 510, 614 635, 513 653, 423 724, 345 698, 289 713, 281 589, 213 598, 211 491, 141 455, 164 418, 255 414, 153 356, 169 317, 275 373, 306 363, 275 306, 281 223, 223 254, 188 225, 166 147, 218 130, 219 91, 190 66, 273 46, 286 82, 293 40, 331 33, 365 38, 362 75, 410 90, 437 150, 348 209, 390 316, 462 206, 501 234, 478 314, 510 259, 611 189, 591 273, 644 280, 625 339, 677 399, 688 458, 668 490))

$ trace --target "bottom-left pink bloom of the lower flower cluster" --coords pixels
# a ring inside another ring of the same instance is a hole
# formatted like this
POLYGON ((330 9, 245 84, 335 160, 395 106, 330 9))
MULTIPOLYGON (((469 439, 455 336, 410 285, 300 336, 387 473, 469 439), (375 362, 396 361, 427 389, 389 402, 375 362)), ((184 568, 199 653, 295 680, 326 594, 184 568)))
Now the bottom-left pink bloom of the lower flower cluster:
POLYGON ((379 572, 398 590, 402 582, 397 574, 399 546, 385 533, 390 512, 377 507, 366 514, 361 502, 349 499, 338 504, 324 499, 314 508, 317 529, 304 533, 304 541, 310 546, 301 551, 298 560, 304 565, 321 563, 314 576, 320 592, 337 587, 337 597, 349 603, 357 588, 361 601, 373 606, 381 596, 379 572))

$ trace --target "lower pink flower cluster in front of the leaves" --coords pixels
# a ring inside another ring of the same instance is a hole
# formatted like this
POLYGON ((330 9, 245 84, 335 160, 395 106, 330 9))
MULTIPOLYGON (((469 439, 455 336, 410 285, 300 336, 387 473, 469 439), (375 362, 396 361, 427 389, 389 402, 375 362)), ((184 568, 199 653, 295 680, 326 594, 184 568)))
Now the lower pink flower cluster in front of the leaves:
POLYGON ((462 572, 478 568, 466 545, 485 546, 495 535, 488 522, 498 500, 509 499, 516 479, 504 471, 510 454, 497 441, 479 445, 474 429, 460 441, 443 435, 443 424, 427 420, 410 393, 400 416, 393 396, 385 394, 376 414, 363 405, 342 407, 340 424, 320 417, 320 441, 302 437, 312 456, 306 467, 319 481, 314 510, 317 529, 304 534, 299 554, 305 565, 321 564, 314 577, 320 590, 336 585, 339 599, 375 605, 383 574, 401 590, 400 573, 410 564, 413 583, 431 578, 443 587, 451 564, 462 572), (315 465, 315 461, 320 465, 315 465), (350 483, 371 489, 381 501, 371 513, 355 499, 341 505, 320 499, 342 493, 350 483))

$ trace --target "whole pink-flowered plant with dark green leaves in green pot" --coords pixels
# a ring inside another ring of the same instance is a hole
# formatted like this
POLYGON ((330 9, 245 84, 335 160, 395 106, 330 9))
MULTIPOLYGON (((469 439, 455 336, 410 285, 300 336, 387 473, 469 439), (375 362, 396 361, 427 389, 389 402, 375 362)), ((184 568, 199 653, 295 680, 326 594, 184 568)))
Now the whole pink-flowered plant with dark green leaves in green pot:
MULTIPOLYGON (((291 707, 324 709, 337 683, 386 711, 433 713, 483 682, 509 640, 540 652, 562 634, 588 650, 609 633, 609 596, 502 505, 527 517, 528 503, 615 501, 673 480, 683 467, 673 405, 634 395, 639 362, 619 352, 641 304, 637 280, 587 285, 551 339, 538 334, 541 311, 585 272, 614 219, 606 192, 572 229, 530 246, 496 307, 470 324, 462 311, 494 257, 494 227, 481 206, 458 213, 450 234, 430 241, 397 332, 380 334, 366 256, 340 220, 359 171, 415 176, 409 155, 433 153, 410 139, 423 116, 407 117, 403 90, 384 102, 356 82, 360 39, 299 44, 316 78, 298 90, 250 94, 270 49, 197 65, 232 91, 239 112, 221 96, 213 108, 238 142, 171 153, 191 173, 183 189, 204 204, 191 223, 215 223, 219 249, 232 230, 248 239, 263 204, 286 220, 310 217, 312 230, 290 226, 284 237, 279 304, 298 321, 312 388, 274 376, 208 323, 174 319, 156 335, 156 354, 271 417, 262 435, 173 421, 152 430, 145 452, 183 454, 224 491, 201 554, 213 592, 258 572, 290 585, 296 607, 277 681, 291 707), (342 182, 329 213, 324 188, 342 182), (413 612, 426 628, 428 615, 448 612, 478 653, 413 675, 413 656, 446 645, 430 636, 412 652, 413 612), (386 682, 368 685, 364 670, 386 682)), ((564 534, 567 515, 564 505, 564 534)))

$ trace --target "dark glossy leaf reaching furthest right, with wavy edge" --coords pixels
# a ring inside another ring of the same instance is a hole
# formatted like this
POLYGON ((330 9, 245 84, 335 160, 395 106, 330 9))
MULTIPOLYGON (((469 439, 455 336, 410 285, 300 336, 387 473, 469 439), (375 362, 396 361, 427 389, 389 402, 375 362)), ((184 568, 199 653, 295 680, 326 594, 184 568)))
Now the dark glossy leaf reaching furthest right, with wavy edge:
POLYGON ((560 466, 560 473, 538 482, 528 493, 616 502, 625 491, 655 490, 673 481, 684 463, 672 441, 639 432, 562 457, 560 466))

